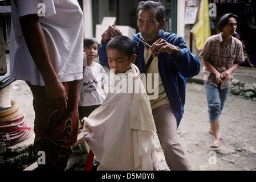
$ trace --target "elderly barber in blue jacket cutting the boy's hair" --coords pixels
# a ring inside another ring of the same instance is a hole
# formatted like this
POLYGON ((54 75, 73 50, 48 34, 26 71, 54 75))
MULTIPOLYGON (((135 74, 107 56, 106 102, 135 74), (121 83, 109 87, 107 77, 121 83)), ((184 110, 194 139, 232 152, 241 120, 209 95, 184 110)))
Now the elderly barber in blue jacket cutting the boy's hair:
MULTIPOLYGON (((132 36, 137 51, 135 64, 141 73, 151 76, 152 80, 158 79, 157 98, 154 97, 150 101, 157 135, 168 167, 170 170, 191 170, 177 140, 177 128, 184 113, 186 77, 198 75, 201 65, 198 57, 186 46, 184 38, 161 30, 165 24, 164 17, 165 7, 161 2, 139 3, 137 26, 140 33, 132 36)), ((121 34, 121 31, 112 25, 101 36, 99 59, 107 67, 107 43, 114 36, 121 34)))

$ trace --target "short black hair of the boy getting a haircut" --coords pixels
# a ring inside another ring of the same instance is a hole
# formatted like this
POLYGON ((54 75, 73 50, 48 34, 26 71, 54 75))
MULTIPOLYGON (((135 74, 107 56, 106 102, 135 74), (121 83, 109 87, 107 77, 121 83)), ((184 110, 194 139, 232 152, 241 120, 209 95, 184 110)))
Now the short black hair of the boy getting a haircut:
POLYGON ((124 52, 129 59, 131 59, 136 52, 132 40, 124 35, 118 35, 111 39, 107 44, 107 50, 108 49, 117 49, 124 52))

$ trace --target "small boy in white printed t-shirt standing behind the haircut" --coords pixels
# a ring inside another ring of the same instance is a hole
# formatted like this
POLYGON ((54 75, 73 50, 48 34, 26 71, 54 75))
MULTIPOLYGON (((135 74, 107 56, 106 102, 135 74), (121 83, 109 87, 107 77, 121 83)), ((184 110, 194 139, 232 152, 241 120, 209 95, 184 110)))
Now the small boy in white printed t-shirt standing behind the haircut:
MULTIPOLYGON (((84 117, 88 117, 105 99, 104 84, 107 84, 108 81, 104 68, 99 63, 94 62, 97 57, 97 47, 98 43, 94 37, 84 38, 87 65, 84 69, 78 102, 80 121, 84 117)), ((81 125, 83 126, 83 123, 81 125)))

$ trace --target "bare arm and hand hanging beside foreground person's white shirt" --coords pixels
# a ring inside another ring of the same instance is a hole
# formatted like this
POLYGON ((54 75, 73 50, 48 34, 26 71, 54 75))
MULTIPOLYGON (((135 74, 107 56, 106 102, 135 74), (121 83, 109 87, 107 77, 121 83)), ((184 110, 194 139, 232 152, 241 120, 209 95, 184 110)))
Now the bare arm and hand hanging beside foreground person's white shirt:
POLYGON ((46 40, 36 14, 21 16, 23 36, 44 81, 47 101, 59 109, 67 107, 67 93, 52 67, 46 40))

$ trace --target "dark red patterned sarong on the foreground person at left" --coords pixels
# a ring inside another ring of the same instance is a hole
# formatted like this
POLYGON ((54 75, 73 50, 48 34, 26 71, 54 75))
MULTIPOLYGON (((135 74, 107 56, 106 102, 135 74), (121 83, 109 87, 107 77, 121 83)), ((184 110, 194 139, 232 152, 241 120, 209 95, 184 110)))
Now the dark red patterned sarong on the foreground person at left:
POLYGON ((64 170, 78 136, 78 81, 63 82, 68 95, 65 110, 54 109, 47 103, 43 86, 28 85, 35 110, 33 154, 45 152, 46 164, 40 167, 64 170))

